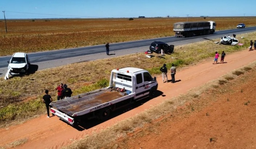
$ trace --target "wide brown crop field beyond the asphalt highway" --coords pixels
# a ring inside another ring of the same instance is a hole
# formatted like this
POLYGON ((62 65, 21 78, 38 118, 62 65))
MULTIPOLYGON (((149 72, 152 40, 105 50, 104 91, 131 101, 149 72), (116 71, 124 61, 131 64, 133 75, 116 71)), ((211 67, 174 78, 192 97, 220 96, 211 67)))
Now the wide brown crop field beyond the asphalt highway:
MULTIPOLYGON (((0 55, 173 36, 176 18, 38 19, 0 21, 0 55)), ((256 17, 189 17, 188 21, 215 21, 216 30, 234 29, 240 22, 256 25, 256 17)))

